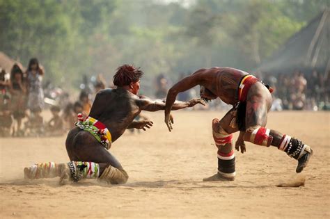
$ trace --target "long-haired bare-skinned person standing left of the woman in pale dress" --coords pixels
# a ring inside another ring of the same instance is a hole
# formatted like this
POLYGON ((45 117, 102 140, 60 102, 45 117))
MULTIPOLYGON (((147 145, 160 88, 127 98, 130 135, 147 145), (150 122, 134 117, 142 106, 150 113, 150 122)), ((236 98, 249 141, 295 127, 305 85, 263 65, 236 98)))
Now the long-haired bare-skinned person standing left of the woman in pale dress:
POLYGON ((26 110, 26 83, 23 78, 23 72, 18 65, 13 65, 10 72, 10 108, 13 112, 14 120, 17 121, 17 127, 14 127, 13 136, 24 136, 21 129, 22 119, 25 117, 26 110))

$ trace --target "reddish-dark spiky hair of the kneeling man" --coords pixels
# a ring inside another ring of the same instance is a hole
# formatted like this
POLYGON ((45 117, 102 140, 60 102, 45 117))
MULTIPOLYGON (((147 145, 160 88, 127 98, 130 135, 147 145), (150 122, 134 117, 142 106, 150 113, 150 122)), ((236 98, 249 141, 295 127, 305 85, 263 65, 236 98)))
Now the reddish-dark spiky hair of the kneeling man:
POLYGON ((117 68, 117 72, 113 76, 113 84, 118 87, 128 86, 132 82, 139 81, 142 75, 140 67, 125 64, 117 68))

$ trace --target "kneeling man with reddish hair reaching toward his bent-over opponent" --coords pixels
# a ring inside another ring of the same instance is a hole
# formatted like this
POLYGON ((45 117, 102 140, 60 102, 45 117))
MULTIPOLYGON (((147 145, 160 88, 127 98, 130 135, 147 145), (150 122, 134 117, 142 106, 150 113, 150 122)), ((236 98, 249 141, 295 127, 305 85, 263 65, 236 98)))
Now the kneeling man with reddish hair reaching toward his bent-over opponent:
MULTIPOLYGON (((108 151, 111 144, 123 135, 126 129, 150 128, 149 120, 133 121, 141 111, 164 110, 162 100, 139 97, 140 78, 143 72, 133 65, 118 67, 113 76, 116 89, 104 89, 97 93, 91 113, 78 118, 76 127, 68 133, 66 149, 69 163, 37 163, 24 169, 28 179, 61 177, 79 181, 84 178, 100 178, 110 184, 125 184, 127 172, 119 161, 108 151)), ((203 104, 201 99, 189 102, 175 102, 172 109, 203 104)))

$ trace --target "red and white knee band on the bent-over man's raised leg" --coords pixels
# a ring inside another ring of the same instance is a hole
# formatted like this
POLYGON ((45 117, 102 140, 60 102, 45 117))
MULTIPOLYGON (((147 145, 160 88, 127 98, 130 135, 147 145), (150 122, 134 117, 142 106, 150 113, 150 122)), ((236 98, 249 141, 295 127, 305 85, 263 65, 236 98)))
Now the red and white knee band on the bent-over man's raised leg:
POLYGON ((265 127, 249 127, 244 133, 244 140, 256 145, 269 147, 272 144, 273 137, 269 135, 270 129, 265 127))

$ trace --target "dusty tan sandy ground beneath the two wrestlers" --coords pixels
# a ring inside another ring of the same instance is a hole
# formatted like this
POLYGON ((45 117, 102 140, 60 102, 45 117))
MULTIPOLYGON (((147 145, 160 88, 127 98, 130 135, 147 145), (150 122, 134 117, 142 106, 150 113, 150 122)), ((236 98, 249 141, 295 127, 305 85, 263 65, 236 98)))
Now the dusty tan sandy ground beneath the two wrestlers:
POLYGON ((313 147, 302 174, 278 149, 248 143, 246 154, 237 153, 235 181, 203 182, 217 171, 211 121, 224 113, 175 112, 172 133, 162 112, 148 113, 152 129, 127 131, 111 148, 129 174, 121 186, 24 181, 25 166, 68 161, 65 136, 0 138, 0 218, 329 218, 330 113, 269 115, 267 127, 313 147), (276 187, 299 177, 305 186, 276 187))

